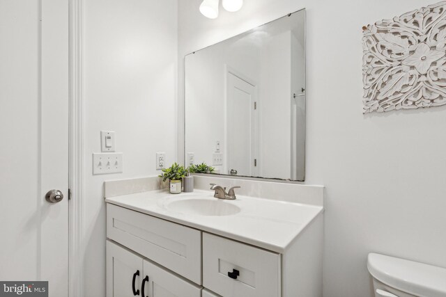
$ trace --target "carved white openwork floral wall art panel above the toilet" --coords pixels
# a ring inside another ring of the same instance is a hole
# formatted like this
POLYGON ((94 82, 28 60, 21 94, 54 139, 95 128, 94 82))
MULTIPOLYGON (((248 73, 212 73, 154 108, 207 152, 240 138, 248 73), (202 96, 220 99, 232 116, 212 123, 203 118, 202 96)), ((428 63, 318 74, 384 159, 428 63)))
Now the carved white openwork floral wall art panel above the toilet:
POLYGON ((446 104, 446 1, 364 29, 364 113, 446 104))

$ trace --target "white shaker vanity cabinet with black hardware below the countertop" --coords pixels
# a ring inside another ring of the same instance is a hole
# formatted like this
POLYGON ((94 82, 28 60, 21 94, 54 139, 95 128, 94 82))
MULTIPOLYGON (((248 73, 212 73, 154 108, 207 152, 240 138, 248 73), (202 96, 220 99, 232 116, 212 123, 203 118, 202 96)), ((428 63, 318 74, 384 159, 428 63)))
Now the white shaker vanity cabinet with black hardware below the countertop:
POLYGON ((136 210, 107 203, 107 297, 322 296, 323 216, 274 252, 136 210))

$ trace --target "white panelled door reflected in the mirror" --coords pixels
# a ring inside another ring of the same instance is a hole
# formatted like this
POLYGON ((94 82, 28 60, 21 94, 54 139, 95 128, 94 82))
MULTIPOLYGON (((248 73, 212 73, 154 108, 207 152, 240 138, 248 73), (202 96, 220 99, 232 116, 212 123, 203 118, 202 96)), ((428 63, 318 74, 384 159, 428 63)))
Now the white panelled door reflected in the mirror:
POLYGON ((227 76, 226 161, 232 175, 256 176, 259 125, 256 87, 236 77, 227 76))

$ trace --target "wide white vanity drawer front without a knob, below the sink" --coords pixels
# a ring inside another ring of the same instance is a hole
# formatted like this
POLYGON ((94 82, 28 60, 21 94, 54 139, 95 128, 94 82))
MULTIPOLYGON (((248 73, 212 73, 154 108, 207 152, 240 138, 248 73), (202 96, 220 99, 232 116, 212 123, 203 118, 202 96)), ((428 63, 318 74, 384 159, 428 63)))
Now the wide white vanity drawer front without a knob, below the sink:
POLYGON ((201 284, 201 231, 108 203, 107 237, 201 284))

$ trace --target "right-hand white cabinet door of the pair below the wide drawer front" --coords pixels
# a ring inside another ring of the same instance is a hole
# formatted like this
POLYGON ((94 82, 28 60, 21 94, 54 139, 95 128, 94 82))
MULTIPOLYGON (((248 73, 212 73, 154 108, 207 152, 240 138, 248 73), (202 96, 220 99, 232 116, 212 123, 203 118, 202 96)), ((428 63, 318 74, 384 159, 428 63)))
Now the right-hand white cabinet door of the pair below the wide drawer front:
POLYGON ((201 297, 201 287, 144 260, 143 297, 201 297))

